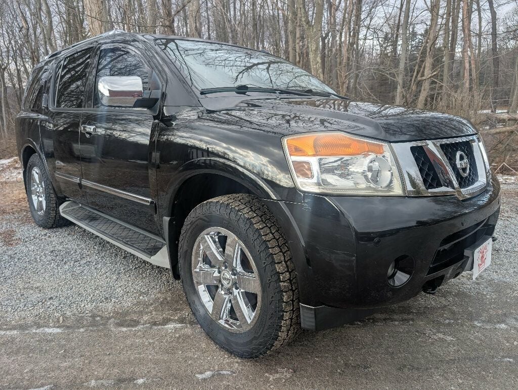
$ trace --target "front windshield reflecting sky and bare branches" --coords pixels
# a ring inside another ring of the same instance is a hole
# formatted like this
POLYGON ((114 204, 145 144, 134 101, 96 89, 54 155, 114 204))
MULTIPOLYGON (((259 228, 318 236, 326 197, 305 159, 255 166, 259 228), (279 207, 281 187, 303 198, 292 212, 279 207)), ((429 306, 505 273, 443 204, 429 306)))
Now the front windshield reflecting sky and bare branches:
POLYGON ((199 90, 248 85, 335 93, 305 70, 264 52, 183 39, 156 43, 199 90))

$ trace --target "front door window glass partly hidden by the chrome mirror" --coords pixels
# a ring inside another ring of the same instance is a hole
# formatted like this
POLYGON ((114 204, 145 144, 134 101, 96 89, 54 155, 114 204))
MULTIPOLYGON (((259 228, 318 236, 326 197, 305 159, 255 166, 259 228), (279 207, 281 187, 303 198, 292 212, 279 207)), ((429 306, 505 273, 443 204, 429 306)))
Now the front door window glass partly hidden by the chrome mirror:
POLYGON ((95 79, 94 108, 100 107, 97 83, 103 76, 138 76, 142 79, 143 90, 149 89, 150 69, 132 51, 124 48, 102 49, 97 64, 95 79))

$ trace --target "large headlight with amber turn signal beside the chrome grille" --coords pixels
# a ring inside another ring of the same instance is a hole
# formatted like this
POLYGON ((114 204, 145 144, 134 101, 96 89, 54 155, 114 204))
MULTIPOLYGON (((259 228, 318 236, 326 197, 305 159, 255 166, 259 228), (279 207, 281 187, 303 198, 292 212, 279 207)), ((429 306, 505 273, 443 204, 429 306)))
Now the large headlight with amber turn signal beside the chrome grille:
POLYGON ((293 180, 304 192, 348 195, 403 195, 387 143, 344 133, 311 133, 283 138, 293 180))

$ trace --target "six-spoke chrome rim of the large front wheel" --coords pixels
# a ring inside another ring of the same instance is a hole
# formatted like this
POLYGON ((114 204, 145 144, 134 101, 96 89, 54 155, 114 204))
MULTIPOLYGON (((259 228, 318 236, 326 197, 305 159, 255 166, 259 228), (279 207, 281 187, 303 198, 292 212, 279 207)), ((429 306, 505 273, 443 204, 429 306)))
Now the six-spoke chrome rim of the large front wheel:
POLYGON ((211 227, 198 236, 192 275, 215 322, 237 333, 254 325, 261 308, 261 283, 250 252, 233 233, 211 227))

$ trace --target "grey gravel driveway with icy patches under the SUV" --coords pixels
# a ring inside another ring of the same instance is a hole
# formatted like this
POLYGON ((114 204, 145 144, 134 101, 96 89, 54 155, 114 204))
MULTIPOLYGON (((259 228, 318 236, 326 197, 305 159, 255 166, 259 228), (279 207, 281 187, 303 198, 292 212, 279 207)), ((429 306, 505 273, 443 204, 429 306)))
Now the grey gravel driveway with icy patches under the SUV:
POLYGON ((16 160, 0 161, 0 199, 0 388, 518 387, 516 184, 476 281, 257 360, 205 336, 168 270, 75 225, 37 227, 16 160))

